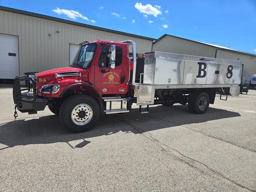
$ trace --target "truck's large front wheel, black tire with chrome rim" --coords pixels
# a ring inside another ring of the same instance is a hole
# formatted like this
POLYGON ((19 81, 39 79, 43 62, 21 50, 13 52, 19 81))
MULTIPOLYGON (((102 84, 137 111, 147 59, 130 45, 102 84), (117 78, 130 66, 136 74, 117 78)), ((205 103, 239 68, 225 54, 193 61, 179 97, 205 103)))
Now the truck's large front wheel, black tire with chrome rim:
POLYGON ((99 117, 99 105, 88 95, 72 95, 60 107, 60 122, 71 132, 90 130, 99 117))

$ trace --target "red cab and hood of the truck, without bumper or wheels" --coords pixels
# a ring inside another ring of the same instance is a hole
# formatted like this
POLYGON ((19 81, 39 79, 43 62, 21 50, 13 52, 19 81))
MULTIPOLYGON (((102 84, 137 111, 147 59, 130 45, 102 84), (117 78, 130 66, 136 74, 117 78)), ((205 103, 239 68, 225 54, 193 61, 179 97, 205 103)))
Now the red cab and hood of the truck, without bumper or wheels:
POLYGON ((128 55, 128 45, 124 43, 100 40, 81 44, 69 68, 51 69, 35 75, 40 85, 37 86, 38 95, 59 97, 67 84, 75 85, 72 79, 76 79, 77 84, 90 84, 100 96, 124 94, 129 81, 128 55), (46 84, 61 84, 63 88, 60 87, 57 94, 40 91, 46 84))

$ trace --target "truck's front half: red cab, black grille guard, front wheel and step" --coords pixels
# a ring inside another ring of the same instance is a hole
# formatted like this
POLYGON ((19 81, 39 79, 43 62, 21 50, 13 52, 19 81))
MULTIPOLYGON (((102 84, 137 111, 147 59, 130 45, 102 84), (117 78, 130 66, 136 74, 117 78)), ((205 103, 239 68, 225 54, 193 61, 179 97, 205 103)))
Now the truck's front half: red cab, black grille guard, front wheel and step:
POLYGON ((70 67, 43 71, 34 77, 16 77, 13 87, 15 108, 33 114, 48 105, 54 114, 61 117, 61 122, 75 132, 84 131, 81 129, 83 125, 91 127, 102 113, 128 112, 128 82, 133 62, 129 58, 127 43, 131 42, 85 41, 80 44, 70 67), (20 89, 21 81, 32 84, 20 89), (84 101, 80 103, 83 104, 81 108, 75 106, 71 110, 63 107, 73 102, 79 105, 76 101, 84 98, 91 105, 84 101), (67 113, 68 116, 72 113, 71 119, 66 117, 67 113))

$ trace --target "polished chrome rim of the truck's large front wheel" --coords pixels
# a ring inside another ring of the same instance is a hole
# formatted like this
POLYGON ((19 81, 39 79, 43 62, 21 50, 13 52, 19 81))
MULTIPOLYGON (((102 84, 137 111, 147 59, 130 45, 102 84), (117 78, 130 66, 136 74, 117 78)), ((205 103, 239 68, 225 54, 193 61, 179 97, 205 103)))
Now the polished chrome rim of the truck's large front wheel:
POLYGON ((89 123, 92 119, 92 108, 84 103, 77 105, 72 110, 71 119, 77 125, 89 123))

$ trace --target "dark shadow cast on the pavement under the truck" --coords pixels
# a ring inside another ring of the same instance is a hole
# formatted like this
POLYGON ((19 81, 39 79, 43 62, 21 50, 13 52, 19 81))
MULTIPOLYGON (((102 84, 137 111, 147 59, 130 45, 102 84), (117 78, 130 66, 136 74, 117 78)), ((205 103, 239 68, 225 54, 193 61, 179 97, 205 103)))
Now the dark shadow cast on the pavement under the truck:
MULTIPOLYGON (((130 113, 102 115, 98 124, 92 130, 84 133, 68 132, 60 123, 59 116, 49 115, 39 119, 16 120, 0 125, 0 150, 18 145, 49 144, 73 140, 84 140, 71 148, 82 148, 90 143, 86 139, 110 135, 117 132, 133 132, 134 134, 172 128, 180 125, 197 124, 212 120, 241 116, 239 113, 209 108, 205 114, 197 115, 188 111, 187 106, 150 107, 149 113, 139 114, 139 109, 130 113)), ((209 127, 211 129, 211 127, 209 127)))

